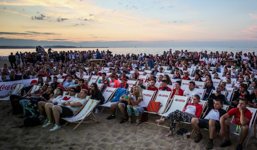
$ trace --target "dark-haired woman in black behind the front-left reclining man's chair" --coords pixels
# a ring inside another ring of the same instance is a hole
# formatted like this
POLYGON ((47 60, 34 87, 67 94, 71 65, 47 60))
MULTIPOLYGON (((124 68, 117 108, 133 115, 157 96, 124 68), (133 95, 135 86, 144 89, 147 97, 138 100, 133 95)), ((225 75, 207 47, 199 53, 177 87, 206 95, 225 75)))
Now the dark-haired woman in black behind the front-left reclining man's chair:
MULTIPOLYGON (((97 83, 92 83, 90 85, 91 87, 91 99, 96 99, 96 100, 100 100, 100 103, 98 103, 99 105, 102 105, 104 102, 104 97, 102 92, 98 89, 97 83)), ((95 113, 99 112, 99 107, 98 105, 95 107, 95 113)))

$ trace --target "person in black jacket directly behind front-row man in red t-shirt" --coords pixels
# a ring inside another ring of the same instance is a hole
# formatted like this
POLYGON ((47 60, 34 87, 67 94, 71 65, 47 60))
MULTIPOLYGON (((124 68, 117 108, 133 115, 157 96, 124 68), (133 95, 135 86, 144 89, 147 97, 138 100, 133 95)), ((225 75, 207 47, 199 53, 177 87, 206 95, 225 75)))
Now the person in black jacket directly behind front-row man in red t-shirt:
POLYGON ((234 106, 234 108, 236 108, 238 105, 239 99, 242 99, 242 98, 246 98, 246 99, 250 98, 250 93, 247 91, 247 85, 245 83, 240 84, 239 90, 237 90, 234 93, 231 106, 234 106))

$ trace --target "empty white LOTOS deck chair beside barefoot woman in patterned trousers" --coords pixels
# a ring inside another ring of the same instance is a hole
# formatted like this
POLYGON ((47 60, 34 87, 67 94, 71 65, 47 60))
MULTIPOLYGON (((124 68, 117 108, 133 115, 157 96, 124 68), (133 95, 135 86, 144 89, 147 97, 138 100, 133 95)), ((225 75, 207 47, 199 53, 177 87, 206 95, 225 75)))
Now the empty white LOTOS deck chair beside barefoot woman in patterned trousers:
MULTIPOLYGON (((188 98, 189 97, 186 97, 186 96, 174 95, 172 101, 169 103, 169 106, 165 110, 165 113, 164 114, 159 114, 161 116, 160 119, 162 119, 163 117, 168 116, 171 112, 174 112, 175 110, 182 111, 183 108, 185 108, 185 106, 186 106, 188 98)), ((158 123, 157 126, 163 126, 163 125, 159 125, 159 123, 158 123)), ((163 126, 163 127, 170 128, 170 127, 167 127, 167 126, 163 126)))

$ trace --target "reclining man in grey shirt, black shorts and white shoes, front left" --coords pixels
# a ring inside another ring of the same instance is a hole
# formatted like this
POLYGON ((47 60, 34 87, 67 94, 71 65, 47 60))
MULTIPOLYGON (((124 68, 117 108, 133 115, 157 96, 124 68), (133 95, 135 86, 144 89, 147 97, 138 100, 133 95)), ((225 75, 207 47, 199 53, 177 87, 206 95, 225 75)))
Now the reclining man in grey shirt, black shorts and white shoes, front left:
POLYGON ((54 105, 53 103, 46 103, 45 109, 49 121, 44 124, 42 128, 53 125, 55 120, 55 125, 49 131, 55 131, 60 129, 61 125, 59 124, 59 119, 62 117, 73 116, 78 111, 78 109, 80 109, 80 107, 87 102, 87 99, 85 99, 86 96, 87 90, 82 89, 79 93, 79 98, 75 97, 71 99, 69 102, 65 103, 65 106, 54 105), (54 119, 52 118, 52 115, 54 119))

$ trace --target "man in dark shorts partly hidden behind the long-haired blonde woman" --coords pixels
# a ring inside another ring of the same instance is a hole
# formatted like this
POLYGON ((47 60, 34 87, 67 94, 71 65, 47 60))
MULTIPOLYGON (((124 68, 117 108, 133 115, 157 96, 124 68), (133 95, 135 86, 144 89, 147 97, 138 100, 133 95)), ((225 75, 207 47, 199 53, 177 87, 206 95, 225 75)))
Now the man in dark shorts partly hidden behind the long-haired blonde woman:
POLYGON ((110 110, 112 112, 112 114, 107 117, 107 120, 113 119, 115 118, 115 110, 117 108, 117 105, 119 107, 120 112, 122 113, 122 120, 119 123, 124 123, 128 120, 128 118, 126 117, 126 111, 127 111, 127 105, 128 105, 128 94, 133 92, 133 87, 136 86, 135 84, 131 86, 130 91, 126 92, 124 95, 122 95, 119 98, 119 102, 116 103, 112 103, 110 106, 110 110))

